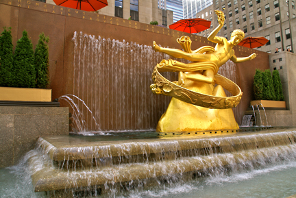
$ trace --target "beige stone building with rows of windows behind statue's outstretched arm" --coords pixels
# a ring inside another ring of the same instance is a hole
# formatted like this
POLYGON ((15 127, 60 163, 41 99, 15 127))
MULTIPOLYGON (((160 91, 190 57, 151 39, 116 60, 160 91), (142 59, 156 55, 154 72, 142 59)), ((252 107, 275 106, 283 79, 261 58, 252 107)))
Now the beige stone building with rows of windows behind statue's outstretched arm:
POLYGON ((274 53, 275 48, 279 51, 293 48, 292 40, 296 40, 295 0, 214 0, 210 7, 197 13, 197 17, 212 20, 212 28, 200 32, 200 36, 208 36, 218 26, 217 15, 214 12, 207 14, 210 10, 225 13, 225 24, 218 36, 230 39, 234 29, 242 29, 245 37, 263 36, 270 40, 257 48, 260 51, 274 53))

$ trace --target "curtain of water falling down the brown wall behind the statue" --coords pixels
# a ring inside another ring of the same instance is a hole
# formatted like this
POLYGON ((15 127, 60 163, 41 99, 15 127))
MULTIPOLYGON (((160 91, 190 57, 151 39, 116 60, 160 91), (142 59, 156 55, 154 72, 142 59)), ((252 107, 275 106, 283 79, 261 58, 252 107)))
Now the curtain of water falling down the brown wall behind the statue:
MULTIPOLYGON (((153 51, 151 46, 82 32, 74 33, 73 42, 73 95, 77 98, 70 98, 84 115, 83 130, 95 131, 98 125, 103 131, 155 128, 170 97, 151 93, 151 72, 162 59, 172 57, 153 51)), ((236 64, 229 60, 219 74, 236 82, 236 64)), ((163 75, 177 79, 177 73, 163 75)))

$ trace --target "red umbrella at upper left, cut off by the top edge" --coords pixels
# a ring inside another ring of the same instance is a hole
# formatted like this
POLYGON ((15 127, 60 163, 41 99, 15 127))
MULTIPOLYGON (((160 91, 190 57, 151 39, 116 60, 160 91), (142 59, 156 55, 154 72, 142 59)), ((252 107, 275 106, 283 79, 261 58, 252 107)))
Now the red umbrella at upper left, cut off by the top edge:
POLYGON ((56 5, 84 11, 97 11, 108 5, 107 0, 53 0, 56 5))

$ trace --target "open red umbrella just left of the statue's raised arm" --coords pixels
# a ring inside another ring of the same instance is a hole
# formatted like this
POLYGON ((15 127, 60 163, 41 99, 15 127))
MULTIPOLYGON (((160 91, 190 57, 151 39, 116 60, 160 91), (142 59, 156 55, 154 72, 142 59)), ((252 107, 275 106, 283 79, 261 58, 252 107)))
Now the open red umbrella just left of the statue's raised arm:
POLYGON ((170 29, 175 29, 190 34, 202 32, 205 29, 210 28, 210 21, 202 18, 189 18, 181 19, 172 25, 169 25, 170 29))

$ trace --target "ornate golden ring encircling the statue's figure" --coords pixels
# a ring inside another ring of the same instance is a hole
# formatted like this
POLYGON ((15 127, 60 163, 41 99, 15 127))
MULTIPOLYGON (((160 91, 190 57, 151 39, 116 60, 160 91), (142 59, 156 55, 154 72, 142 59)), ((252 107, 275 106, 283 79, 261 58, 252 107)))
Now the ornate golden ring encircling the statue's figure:
POLYGON ((228 90, 233 95, 232 97, 216 97, 212 95, 205 95, 193 90, 188 90, 182 86, 178 86, 177 84, 163 77, 158 71, 158 66, 156 66, 153 70, 152 79, 154 84, 151 84, 150 88, 154 94, 175 97, 176 99, 180 99, 186 103, 205 108, 235 108, 243 95, 243 92, 240 90, 238 85, 236 85, 230 79, 227 79, 226 77, 223 77, 219 74, 214 75, 214 82, 228 90))

